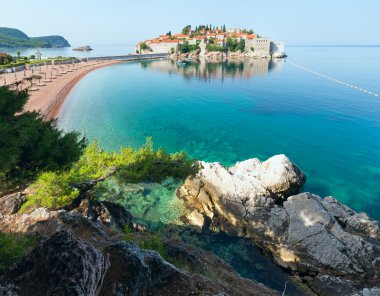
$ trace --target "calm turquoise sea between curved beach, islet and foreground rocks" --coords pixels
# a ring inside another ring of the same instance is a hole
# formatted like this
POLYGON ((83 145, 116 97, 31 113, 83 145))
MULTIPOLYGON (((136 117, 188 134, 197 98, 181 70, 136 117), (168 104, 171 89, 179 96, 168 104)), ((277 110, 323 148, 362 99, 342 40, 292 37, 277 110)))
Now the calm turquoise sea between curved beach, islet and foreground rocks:
POLYGON ((306 191, 380 219, 380 47, 291 47, 285 61, 119 64, 72 90, 59 124, 106 149, 152 136, 168 151, 232 165, 284 153, 306 191))

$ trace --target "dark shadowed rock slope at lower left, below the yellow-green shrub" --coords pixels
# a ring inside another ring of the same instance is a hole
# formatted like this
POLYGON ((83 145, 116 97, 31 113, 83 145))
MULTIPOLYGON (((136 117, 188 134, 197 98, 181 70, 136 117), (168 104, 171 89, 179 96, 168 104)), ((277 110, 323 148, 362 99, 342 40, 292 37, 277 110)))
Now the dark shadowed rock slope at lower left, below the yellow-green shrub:
POLYGON ((46 238, 0 275, 1 296, 278 295, 241 278, 213 254, 183 242, 165 241, 170 261, 180 265, 176 267, 155 251, 124 241, 120 226, 141 227, 112 203, 85 199, 70 211, 37 208, 19 213, 21 196, 4 198, 2 232, 46 238))

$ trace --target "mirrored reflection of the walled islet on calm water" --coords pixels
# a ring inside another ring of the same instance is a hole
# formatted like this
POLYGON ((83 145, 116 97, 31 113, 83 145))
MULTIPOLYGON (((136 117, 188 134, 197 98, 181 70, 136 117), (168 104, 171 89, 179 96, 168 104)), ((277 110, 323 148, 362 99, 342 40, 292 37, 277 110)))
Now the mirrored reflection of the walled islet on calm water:
POLYGON ((182 75, 185 79, 222 79, 232 77, 251 79, 255 76, 265 76, 271 71, 281 71, 284 60, 243 59, 229 61, 208 61, 200 59, 179 66, 174 60, 144 61, 141 67, 149 70, 182 75))

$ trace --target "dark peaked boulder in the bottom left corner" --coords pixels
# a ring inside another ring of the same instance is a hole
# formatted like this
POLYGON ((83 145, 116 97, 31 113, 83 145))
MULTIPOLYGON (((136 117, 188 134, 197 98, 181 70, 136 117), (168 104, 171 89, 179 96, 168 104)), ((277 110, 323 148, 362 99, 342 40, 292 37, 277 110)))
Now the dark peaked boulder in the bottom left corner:
POLYGON ((98 295, 108 267, 99 250, 60 231, 0 278, 0 295, 98 295))

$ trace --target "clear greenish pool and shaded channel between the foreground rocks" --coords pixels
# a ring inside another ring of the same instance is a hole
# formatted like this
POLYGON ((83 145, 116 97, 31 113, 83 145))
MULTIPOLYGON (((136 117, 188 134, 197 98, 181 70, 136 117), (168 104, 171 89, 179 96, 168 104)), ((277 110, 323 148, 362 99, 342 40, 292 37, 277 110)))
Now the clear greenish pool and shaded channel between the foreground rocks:
POLYGON ((288 282, 286 295, 303 295, 289 276, 251 240, 223 233, 194 231, 185 226, 180 217, 188 210, 184 202, 175 196, 176 189, 182 183, 168 178, 162 183, 120 184, 116 179, 109 178, 94 194, 99 199, 123 205, 133 215, 135 222, 165 237, 180 236, 186 243, 213 252, 246 278, 277 291, 283 291, 288 282))

